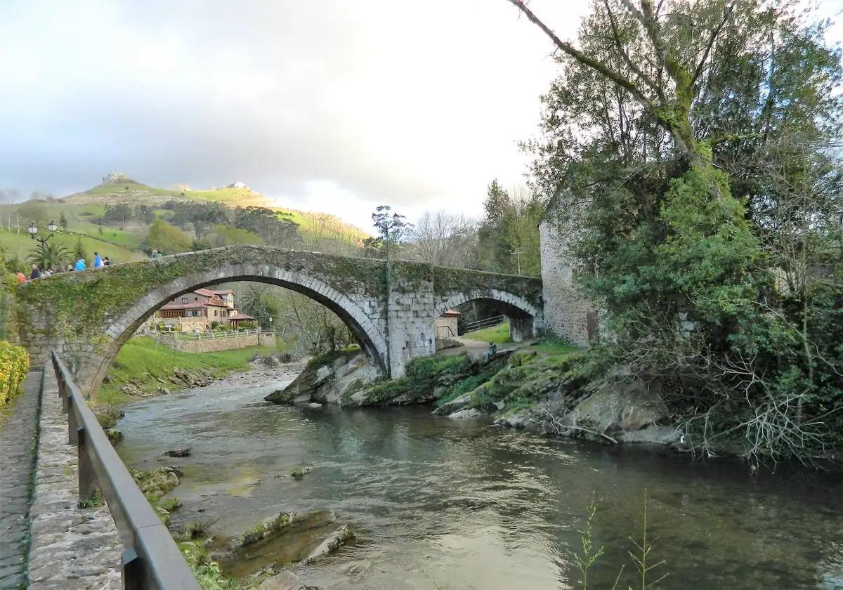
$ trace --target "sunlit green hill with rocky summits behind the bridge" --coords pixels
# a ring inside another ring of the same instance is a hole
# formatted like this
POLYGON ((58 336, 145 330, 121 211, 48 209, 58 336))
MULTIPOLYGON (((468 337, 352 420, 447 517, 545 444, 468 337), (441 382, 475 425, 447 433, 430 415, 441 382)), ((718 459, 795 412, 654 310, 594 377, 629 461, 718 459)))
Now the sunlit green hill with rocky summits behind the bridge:
MULTIPOLYGON (((132 210, 149 207, 154 217, 170 221, 174 212, 169 201, 176 203, 216 203, 223 207, 265 207, 276 212, 279 219, 296 224, 297 248, 315 249, 335 254, 357 253, 362 240, 368 236, 360 229, 343 223, 338 217, 318 212, 303 212, 276 207, 271 199, 251 190, 243 183, 234 183, 221 189, 193 190, 189 188, 158 188, 144 185, 124 174, 110 174, 94 188, 73 193, 59 199, 26 201, 0 206, 0 249, 8 258, 25 260, 38 244, 26 231, 35 222, 43 234, 46 224, 60 223, 62 216, 67 228, 61 228, 52 239, 68 249, 73 249, 78 239, 89 253, 99 250, 115 262, 137 260, 146 253, 143 248, 148 233, 149 219, 122 219, 119 222, 106 215, 107 209, 128 205, 132 210)), ((196 233, 190 224, 182 224, 189 239, 196 233)), ((268 243, 268 242, 267 242, 268 243)))

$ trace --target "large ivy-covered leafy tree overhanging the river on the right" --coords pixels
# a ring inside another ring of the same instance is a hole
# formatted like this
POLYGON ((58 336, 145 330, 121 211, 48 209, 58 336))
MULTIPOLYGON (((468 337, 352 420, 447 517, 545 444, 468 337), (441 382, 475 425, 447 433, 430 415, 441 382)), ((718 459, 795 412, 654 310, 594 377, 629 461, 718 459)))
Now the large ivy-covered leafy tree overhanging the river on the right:
POLYGON ((824 25, 795 0, 600 0, 575 45, 508 1, 559 51, 529 148, 609 316, 593 366, 661 382, 697 448, 823 456, 843 430, 843 103, 824 25))

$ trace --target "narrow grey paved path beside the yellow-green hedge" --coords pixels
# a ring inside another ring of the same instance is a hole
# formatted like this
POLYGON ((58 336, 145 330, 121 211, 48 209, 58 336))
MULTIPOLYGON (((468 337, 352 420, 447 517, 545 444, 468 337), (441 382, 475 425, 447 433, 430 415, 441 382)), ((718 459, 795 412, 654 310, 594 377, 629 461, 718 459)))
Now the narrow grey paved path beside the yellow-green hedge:
POLYGON ((0 426, 0 588, 26 587, 40 385, 40 371, 27 375, 24 393, 0 426))

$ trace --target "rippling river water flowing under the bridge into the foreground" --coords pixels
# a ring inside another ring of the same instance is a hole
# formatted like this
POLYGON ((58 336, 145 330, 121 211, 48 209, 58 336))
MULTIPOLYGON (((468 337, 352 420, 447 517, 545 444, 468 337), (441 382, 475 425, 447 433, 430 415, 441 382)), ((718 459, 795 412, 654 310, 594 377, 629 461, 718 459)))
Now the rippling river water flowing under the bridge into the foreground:
MULTIPOLYGON (((843 483, 792 469, 749 476, 745 465, 641 448, 547 440, 430 416, 429 408, 322 410, 271 405, 282 383, 233 378, 126 405, 126 464, 177 464, 180 518, 234 536, 282 511, 330 510, 336 522, 291 545, 313 546, 347 523, 357 542, 298 574, 320 588, 579 588, 571 550, 592 499, 604 555, 590 588, 636 583, 628 537, 665 561, 658 588, 843 588, 843 483), (190 446, 185 459, 162 459, 190 446), (312 470, 302 480, 294 467, 312 470)), ((300 536, 300 535, 299 535, 300 536)), ((226 563, 248 575, 277 546, 226 563)), ((297 554, 298 555, 298 554, 297 554)), ((640 587, 640 582, 636 587, 640 587)))

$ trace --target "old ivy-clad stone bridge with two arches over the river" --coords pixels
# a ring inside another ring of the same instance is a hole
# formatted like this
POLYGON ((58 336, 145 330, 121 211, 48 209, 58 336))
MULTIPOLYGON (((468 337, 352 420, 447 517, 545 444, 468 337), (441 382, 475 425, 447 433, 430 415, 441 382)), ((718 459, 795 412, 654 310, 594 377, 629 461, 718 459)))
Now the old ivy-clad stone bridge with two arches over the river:
POLYGON ((400 377, 434 351, 434 321, 475 299, 497 302, 513 339, 543 327, 541 280, 405 260, 372 260, 234 245, 63 273, 16 290, 19 338, 34 364, 56 349, 93 393, 123 343, 164 303, 220 282, 266 282, 335 312, 384 374, 400 377))

